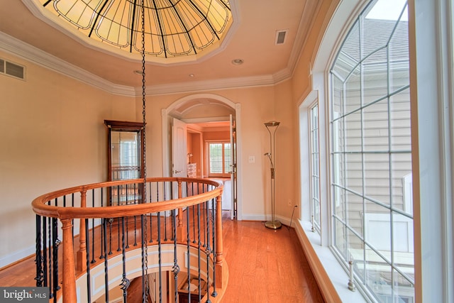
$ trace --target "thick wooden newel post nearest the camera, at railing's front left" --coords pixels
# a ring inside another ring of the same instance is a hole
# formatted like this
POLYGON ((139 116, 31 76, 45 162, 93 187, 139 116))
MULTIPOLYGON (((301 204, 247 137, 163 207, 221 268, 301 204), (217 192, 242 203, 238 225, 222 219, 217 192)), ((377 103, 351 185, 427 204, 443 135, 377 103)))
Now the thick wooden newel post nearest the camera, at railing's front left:
POLYGON ((63 230, 63 302, 77 302, 74 248, 72 247, 72 221, 62 219, 63 230))

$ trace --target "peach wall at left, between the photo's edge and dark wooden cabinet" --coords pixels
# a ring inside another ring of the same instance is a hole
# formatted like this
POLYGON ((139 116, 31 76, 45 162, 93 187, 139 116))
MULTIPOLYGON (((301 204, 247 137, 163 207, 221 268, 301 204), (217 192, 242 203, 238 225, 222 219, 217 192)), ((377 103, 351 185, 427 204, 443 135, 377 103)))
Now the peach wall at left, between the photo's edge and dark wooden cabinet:
MULTIPOLYGON (((104 119, 135 119, 118 97, 8 53, 26 81, 0 75, 0 265, 30 254, 31 201, 56 189, 106 180, 104 119)), ((0 267, 1 267, 0 266, 0 267)))

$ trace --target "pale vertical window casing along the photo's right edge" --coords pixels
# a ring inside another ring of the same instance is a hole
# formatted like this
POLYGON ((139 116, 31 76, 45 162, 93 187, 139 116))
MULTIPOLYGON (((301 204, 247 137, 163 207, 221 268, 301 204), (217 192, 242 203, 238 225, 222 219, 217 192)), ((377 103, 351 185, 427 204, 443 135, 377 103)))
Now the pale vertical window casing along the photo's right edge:
POLYGON ((453 1, 409 1, 416 302, 454 302, 453 1))

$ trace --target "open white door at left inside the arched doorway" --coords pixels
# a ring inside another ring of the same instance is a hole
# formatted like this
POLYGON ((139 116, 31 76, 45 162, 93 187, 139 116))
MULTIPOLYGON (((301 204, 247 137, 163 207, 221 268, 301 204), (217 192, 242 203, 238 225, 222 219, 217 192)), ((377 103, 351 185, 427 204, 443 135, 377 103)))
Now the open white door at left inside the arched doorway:
POLYGON ((186 123, 172 118, 172 177, 187 177, 186 123))

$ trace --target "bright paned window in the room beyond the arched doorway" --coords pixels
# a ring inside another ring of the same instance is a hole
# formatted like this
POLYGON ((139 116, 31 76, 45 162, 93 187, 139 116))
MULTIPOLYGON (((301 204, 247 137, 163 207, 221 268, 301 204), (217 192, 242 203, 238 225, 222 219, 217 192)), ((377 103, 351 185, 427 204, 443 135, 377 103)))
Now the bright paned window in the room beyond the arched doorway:
POLYGON ((231 172, 231 143, 211 142, 209 150, 209 176, 228 177, 231 172))

